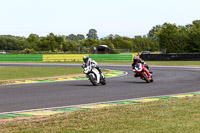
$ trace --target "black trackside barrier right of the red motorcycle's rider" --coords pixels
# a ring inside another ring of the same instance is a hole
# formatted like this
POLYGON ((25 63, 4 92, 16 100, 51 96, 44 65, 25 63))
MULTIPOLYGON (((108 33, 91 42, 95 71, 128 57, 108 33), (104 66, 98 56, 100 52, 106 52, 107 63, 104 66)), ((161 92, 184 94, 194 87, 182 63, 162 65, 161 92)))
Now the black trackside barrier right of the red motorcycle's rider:
POLYGON ((143 54, 145 61, 200 61, 200 54, 143 54))

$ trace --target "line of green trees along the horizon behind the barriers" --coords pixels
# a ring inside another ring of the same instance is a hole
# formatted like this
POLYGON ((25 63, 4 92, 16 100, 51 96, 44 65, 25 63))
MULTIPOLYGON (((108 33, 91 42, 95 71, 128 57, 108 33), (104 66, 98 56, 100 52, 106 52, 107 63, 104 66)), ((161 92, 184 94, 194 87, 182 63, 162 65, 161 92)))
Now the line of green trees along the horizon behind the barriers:
POLYGON ((200 20, 185 26, 156 25, 147 35, 133 38, 112 34, 99 38, 95 29, 90 29, 86 37, 82 34, 64 36, 53 33, 45 37, 37 34, 30 34, 27 38, 0 36, 0 50, 21 50, 23 53, 88 53, 88 48, 99 45, 132 52, 165 49, 167 53, 200 53, 200 20))

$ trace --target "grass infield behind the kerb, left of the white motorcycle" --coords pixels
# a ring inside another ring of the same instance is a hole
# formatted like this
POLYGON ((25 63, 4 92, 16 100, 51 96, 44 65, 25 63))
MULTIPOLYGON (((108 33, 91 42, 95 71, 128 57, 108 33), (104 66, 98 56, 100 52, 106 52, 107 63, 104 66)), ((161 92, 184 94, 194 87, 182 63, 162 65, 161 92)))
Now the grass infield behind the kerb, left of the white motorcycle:
POLYGON ((1 81, 80 74, 82 69, 72 67, 0 67, 0 72, 1 81))

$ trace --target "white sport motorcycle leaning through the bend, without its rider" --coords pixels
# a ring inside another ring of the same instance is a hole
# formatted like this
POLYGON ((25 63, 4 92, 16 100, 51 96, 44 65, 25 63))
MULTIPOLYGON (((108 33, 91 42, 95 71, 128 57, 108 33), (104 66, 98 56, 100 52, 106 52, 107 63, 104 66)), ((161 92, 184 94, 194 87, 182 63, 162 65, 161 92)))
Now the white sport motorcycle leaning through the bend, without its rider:
POLYGON ((83 73, 86 74, 86 76, 94 86, 97 86, 99 84, 102 85, 106 84, 106 79, 103 73, 100 73, 99 70, 97 70, 97 68, 92 66, 86 66, 82 68, 83 68, 83 73))

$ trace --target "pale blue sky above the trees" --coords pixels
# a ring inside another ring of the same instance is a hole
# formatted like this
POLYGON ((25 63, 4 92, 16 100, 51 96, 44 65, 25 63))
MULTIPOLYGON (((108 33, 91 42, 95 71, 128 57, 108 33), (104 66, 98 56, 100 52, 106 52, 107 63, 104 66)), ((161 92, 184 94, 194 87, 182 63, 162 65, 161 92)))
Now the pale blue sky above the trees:
POLYGON ((200 20, 199 0, 0 0, 0 35, 46 36, 97 30, 134 37, 165 22, 186 25, 200 20))

